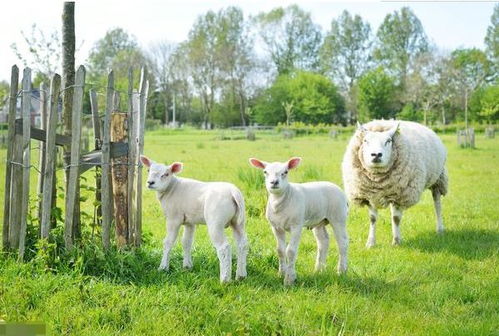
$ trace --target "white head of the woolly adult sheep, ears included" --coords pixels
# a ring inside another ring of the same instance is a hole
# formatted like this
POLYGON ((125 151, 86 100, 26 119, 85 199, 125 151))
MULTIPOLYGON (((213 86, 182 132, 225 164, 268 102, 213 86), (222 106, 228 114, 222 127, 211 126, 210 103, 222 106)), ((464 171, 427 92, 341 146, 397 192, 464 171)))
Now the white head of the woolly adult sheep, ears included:
POLYGON ((399 124, 383 132, 369 131, 357 123, 357 129, 362 135, 362 144, 359 151, 362 163, 366 169, 376 170, 387 168, 392 161, 393 138, 399 124))

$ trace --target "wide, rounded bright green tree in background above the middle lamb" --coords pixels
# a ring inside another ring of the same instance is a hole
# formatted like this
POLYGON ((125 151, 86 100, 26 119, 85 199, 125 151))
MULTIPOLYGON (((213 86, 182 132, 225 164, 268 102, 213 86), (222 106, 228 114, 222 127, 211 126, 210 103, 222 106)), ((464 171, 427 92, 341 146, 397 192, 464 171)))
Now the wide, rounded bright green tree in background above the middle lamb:
POLYGON ((292 104, 294 121, 307 124, 344 123, 345 109, 336 86, 327 77, 298 71, 280 75, 257 100, 255 119, 261 124, 286 122, 286 105, 292 104))

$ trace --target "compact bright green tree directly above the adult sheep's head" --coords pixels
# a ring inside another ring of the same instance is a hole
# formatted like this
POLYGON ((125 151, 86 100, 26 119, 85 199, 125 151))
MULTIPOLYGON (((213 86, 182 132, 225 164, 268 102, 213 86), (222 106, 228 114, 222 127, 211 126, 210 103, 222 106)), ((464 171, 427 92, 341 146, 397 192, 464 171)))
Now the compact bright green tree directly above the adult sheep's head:
POLYGON ((395 82, 381 67, 362 76, 359 79, 358 90, 362 121, 388 119, 394 116, 395 82))

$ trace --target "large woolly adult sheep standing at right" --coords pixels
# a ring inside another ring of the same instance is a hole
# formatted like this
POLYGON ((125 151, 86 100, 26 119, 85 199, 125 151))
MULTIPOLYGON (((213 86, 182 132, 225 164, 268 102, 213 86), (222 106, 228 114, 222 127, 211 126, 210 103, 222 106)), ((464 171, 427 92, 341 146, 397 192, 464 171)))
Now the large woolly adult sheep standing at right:
POLYGON ((369 208, 368 248, 376 244, 378 209, 387 206, 393 244, 400 244, 402 212, 418 203, 425 189, 433 195, 437 232, 443 232, 440 197, 448 188, 446 157, 440 138, 418 123, 374 120, 357 125, 343 157, 343 183, 353 203, 369 208))

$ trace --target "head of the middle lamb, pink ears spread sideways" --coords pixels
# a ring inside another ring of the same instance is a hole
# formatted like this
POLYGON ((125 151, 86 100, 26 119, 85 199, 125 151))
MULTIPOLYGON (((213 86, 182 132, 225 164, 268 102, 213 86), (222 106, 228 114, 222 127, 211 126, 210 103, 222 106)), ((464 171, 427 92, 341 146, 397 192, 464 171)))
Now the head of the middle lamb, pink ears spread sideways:
POLYGON ((265 187, 271 194, 281 194, 289 185, 288 172, 300 164, 301 158, 294 157, 287 162, 265 162, 255 158, 249 159, 253 167, 263 170, 265 187))

